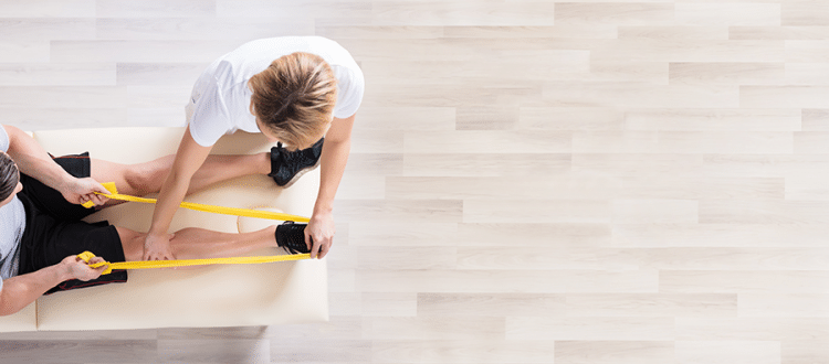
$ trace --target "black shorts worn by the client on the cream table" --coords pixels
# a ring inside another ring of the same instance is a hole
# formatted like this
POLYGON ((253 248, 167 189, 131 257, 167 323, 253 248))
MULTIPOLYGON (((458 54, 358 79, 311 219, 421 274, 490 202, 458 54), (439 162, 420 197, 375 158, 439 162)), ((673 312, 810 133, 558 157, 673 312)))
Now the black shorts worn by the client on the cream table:
MULTIPOLYGON (((91 175, 88 153, 59 157, 54 161, 76 178, 91 175)), ((60 192, 29 175, 21 173, 20 182, 23 190, 18 197, 25 207, 25 231, 20 240, 19 275, 56 265, 86 250, 108 261, 126 260, 115 226, 105 221, 92 224, 81 221, 93 214, 94 208, 67 202, 60 192)), ((46 293, 125 281, 126 270, 114 270, 91 281, 61 282, 46 293)))

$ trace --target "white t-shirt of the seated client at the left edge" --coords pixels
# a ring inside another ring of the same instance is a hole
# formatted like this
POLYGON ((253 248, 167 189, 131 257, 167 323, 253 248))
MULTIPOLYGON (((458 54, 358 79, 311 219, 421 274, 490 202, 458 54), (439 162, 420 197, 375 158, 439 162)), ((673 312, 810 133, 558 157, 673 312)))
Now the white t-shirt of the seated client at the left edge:
MULTIPOLYGON (((0 150, 9 151, 9 135, 6 128, 0 126, 0 150)), ((18 275, 20 264, 20 238, 25 229, 25 208, 15 195, 12 200, 0 206, 0 277, 9 279, 18 275)), ((0 290, 3 282, 0 280, 0 290)))

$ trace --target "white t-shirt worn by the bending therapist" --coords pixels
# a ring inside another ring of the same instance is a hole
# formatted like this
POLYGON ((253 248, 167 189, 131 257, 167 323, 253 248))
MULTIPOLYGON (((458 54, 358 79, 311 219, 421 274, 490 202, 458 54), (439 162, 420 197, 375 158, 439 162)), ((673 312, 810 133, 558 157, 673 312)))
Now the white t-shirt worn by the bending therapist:
POLYGON ((219 57, 196 81, 186 107, 193 140, 209 147, 237 130, 261 132, 250 113, 252 92, 248 81, 274 60, 294 52, 316 54, 330 65, 337 78, 334 117, 347 118, 357 113, 365 82, 348 51, 322 36, 269 38, 248 42, 219 57))

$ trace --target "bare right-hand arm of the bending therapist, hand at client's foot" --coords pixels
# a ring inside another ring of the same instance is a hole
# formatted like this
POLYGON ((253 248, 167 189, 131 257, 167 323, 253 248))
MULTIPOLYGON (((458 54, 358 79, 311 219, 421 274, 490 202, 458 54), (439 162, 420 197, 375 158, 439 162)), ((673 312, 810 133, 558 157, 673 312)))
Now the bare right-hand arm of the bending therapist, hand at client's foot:
POLYGON ((325 257, 334 244, 334 196, 337 194, 351 151, 355 116, 345 119, 334 118, 330 129, 325 133, 323 153, 319 156, 319 192, 311 222, 305 228, 305 243, 311 246, 312 258, 325 257), (313 237, 313 246, 308 237, 313 237))

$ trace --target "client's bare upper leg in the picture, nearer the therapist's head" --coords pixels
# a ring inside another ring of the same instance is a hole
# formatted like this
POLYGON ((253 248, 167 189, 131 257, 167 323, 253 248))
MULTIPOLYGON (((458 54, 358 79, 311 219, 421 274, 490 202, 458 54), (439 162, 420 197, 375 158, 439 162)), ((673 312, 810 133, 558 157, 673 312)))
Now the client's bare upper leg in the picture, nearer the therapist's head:
MULTIPOLYGON (((137 164, 120 164, 101 159, 91 159, 92 178, 98 182, 115 182, 119 193, 143 196, 161 190, 172 167, 175 156, 137 164)), ((271 172, 270 153, 242 156, 209 156, 204 164, 196 171, 190 180, 188 194, 221 181, 248 174, 267 174, 271 172)), ((109 201, 107 205, 119 202, 109 201)))

